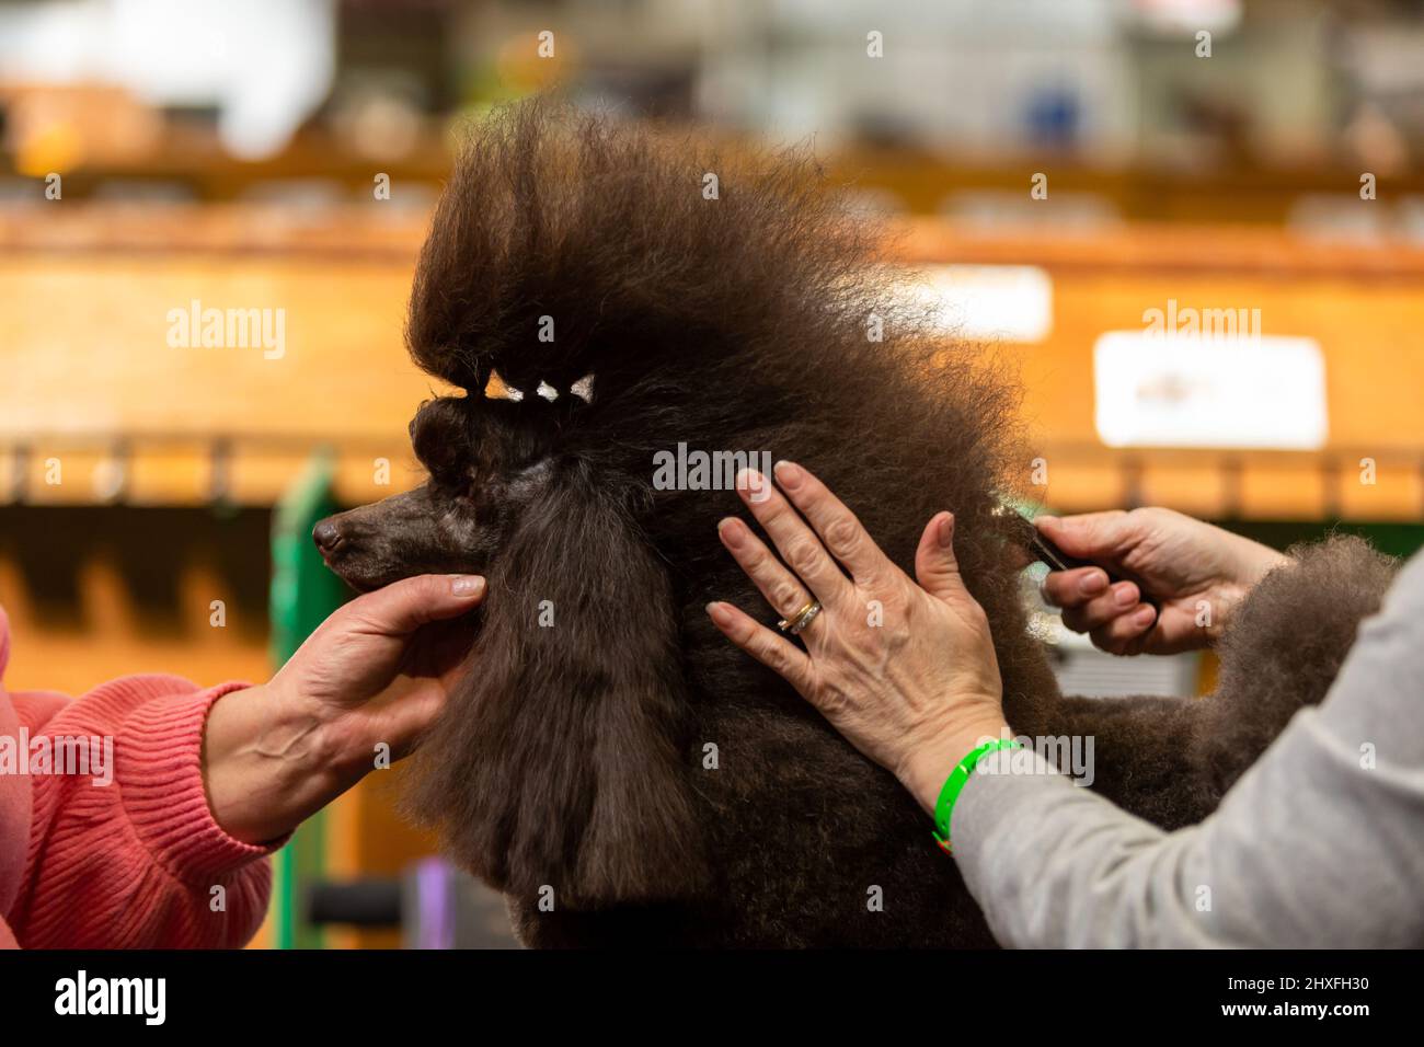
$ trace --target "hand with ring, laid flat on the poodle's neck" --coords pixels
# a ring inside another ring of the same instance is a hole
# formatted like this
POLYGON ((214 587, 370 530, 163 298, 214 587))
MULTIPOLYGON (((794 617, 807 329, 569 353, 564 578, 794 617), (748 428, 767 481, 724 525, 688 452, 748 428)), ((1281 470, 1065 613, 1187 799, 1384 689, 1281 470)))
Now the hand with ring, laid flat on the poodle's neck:
POLYGON ((738 493, 782 560, 735 517, 718 531, 783 621, 803 621, 820 603, 799 631, 806 650, 731 604, 708 604, 708 614, 933 812, 956 764, 1007 736, 988 620, 954 558, 954 517, 940 513, 926 527, 916 584, 820 480, 789 462, 775 473, 780 490, 746 470, 738 493))

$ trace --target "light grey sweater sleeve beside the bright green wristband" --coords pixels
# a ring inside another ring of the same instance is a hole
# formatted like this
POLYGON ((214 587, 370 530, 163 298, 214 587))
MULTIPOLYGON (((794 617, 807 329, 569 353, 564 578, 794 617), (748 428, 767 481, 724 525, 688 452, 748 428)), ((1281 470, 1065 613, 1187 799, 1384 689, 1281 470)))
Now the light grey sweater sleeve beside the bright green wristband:
POLYGON ((1424 554, 1200 825, 1165 833, 1038 756, 1024 771, 973 775, 950 826, 1002 944, 1424 946, 1424 554))

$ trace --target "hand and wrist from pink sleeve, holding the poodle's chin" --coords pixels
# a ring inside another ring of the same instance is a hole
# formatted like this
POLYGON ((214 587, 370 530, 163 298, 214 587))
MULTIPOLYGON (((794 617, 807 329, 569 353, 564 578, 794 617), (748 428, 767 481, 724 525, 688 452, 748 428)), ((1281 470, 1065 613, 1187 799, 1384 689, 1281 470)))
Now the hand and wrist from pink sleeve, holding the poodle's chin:
POLYGON ((478 575, 426 574, 335 611, 263 687, 214 704, 204 782, 214 818, 279 839, 369 771, 404 756, 444 708, 470 650, 478 575))

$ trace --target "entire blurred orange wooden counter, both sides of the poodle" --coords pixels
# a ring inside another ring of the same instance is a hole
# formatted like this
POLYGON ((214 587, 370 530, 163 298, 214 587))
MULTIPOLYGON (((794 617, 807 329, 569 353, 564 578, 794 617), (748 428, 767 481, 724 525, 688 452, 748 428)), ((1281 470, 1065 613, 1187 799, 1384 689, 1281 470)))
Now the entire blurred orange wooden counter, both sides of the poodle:
MULTIPOLYGON (((419 473, 406 423, 434 389, 402 322, 427 215, 387 202, 38 204, 0 212, 0 500, 271 504, 309 452, 339 452, 343 499, 419 473), (171 348, 169 312, 281 309, 285 346, 171 348), (47 483, 50 463, 63 483, 47 483), (382 463, 389 483, 382 483, 382 463)), ((920 219, 913 265, 1030 265, 1052 285, 1037 342, 990 346, 1024 380, 1024 420, 1059 509, 1136 500, 1208 516, 1418 519, 1424 506, 1424 249, 1321 244, 1263 226, 985 231, 920 219), (1094 427, 1092 346, 1169 299, 1257 308, 1316 339, 1319 453, 1111 450, 1094 427), (1377 483, 1351 483, 1358 459, 1377 483)))

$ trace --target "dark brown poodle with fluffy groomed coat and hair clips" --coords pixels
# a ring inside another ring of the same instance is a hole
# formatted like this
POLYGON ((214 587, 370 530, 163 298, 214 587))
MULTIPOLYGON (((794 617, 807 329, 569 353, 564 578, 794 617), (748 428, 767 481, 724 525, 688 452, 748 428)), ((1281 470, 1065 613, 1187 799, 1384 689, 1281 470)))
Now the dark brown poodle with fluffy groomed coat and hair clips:
POLYGON ((424 486, 316 538, 357 588, 487 574, 410 808, 525 943, 993 943, 894 778, 708 621, 713 598, 762 604, 716 537, 729 484, 654 483, 679 444, 805 463, 906 570, 954 510, 1008 722, 1092 735, 1095 788, 1163 826, 1323 697, 1378 605, 1388 561, 1337 540, 1245 604, 1215 697, 1062 698, 991 511, 1027 460, 1008 385, 931 336, 880 242, 802 152, 723 157, 548 103, 463 151, 407 336, 467 395, 412 423, 424 486))

